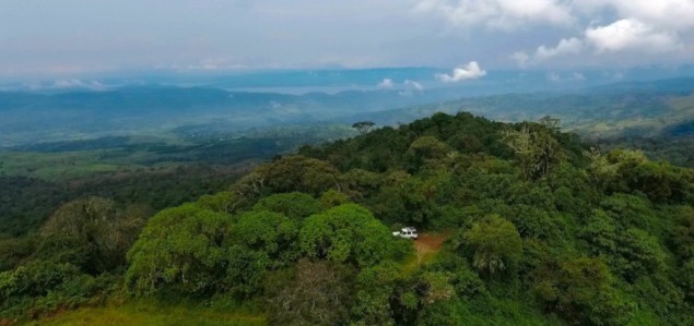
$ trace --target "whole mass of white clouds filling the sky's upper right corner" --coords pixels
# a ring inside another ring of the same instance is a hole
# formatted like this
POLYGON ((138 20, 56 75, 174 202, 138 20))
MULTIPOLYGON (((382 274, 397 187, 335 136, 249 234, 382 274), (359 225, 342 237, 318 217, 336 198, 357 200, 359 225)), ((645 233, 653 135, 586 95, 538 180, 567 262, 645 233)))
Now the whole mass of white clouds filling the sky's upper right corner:
POLYGON ((507 56, 524 68, 572 56, 694 52, 686 46, 694 40, 694 0, 420 0, 415 12, 435 15, 461 33, 482 27, 513 35, 546 26, 565 33, 556 43, 507 56))

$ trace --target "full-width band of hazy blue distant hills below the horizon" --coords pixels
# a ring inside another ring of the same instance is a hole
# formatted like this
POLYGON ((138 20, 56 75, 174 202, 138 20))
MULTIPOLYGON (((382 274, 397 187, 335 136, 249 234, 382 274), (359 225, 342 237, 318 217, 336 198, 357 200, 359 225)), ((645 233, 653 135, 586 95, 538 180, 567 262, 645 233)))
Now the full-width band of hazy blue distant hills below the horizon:
MULTIPOLYGON (((565 130, 593 138, 679 133, 681 129, 671 128, 694 121, 694 79, 479 96, 491 85, 485 83, 490 82, 475 81, 464 87, 303 95, 210 86, 129 86, 59 94, 0 92, 0 146, 102 136, 176 136, 177 131, 189 126, 228 133, 258 126, 351 124, 362 120, 392 125, 436 111, 470 111, 501 121, 553 116, 562 120, 565 130)), ((499 89, 515 88, 501 84, 499 89)))

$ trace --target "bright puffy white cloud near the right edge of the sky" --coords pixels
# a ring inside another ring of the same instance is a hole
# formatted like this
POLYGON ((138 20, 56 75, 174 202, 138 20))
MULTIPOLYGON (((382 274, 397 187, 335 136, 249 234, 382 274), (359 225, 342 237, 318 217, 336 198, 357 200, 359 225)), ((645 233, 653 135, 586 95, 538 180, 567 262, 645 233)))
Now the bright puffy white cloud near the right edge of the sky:
POLYGON ((620 20, 608 26, 586 29, 586 40, 597 52, 624 49, 644 52, 667 52, 680 47, 677 35, 660 32, 636 20, 620 20))

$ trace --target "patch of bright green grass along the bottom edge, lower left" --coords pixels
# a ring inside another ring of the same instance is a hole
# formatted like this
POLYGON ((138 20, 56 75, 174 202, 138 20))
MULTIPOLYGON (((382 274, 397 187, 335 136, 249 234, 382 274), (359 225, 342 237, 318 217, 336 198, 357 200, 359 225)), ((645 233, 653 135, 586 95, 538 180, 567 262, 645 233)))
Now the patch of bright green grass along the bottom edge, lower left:
POLYGON ((128 325, 128 326, 247 326, 267 325, 264 316, 223 311, 221 309, 196 307, 177 304, 165 305, 152 301, 132 301, 122 305, 83 307, 60 313, 54 317, 32 322, 28 325, 128 325))

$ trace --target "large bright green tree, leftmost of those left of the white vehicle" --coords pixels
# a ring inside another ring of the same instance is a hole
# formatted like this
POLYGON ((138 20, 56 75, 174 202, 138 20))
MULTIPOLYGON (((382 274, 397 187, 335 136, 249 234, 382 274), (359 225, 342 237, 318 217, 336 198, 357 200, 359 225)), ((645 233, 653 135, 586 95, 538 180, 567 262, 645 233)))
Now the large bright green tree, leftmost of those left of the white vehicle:
POLYGON ((152 293, 165 285, 200 293, 225 283, 232 219, 192 204, 156 214, 128 252, 126 285, 152 293))

